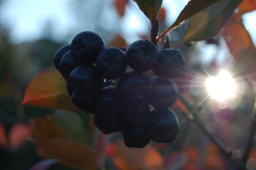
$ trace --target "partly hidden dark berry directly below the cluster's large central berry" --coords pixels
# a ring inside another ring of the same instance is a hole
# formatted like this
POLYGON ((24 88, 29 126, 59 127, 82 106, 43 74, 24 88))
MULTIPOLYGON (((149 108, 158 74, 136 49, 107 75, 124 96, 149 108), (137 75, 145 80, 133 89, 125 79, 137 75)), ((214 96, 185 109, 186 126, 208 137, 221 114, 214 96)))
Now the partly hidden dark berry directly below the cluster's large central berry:
POLYGON ((145 103, 137 107, 131 107, 130 105, 125 105, 123 111, 121 112, 123 121, 130 125, 140 125, 144 124, 150 113, 150 104, 145 103))

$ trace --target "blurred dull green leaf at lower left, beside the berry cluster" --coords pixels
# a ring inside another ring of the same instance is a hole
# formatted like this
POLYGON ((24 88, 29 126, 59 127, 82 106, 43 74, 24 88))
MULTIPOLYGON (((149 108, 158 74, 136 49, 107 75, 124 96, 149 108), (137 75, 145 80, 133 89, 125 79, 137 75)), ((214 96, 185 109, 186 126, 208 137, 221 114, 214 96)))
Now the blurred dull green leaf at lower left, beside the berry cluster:
POLYGON ((73 141, 86 142, 86 132, 83 120, 75 112, 55 111, 52 114, 52 122, 73 141))

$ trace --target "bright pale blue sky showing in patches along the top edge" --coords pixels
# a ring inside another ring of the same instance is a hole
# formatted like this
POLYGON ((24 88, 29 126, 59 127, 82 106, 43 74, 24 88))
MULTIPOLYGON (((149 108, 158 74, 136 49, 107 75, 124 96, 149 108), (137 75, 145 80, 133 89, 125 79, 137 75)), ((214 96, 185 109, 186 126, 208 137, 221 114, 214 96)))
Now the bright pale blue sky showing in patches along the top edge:
MULTIPOLYGON (((163 1, 163 7, 170 9, 167 13, 167 20, 170 24, 175 18, 168 18, 168 16, 177 17, 188 1, 163 1)), ((10 40, 13 44, 40 38, 47 22, 54 23, 52 31, 56 37, 64 37, 75 25, 71 15, 72 11, 69 8, 71 4, 72 0, 5 0, 0 19, 11 29, 10 40)), ((126 33, 145 31, 143 23, 132 14, 132 11, 128 10, 128 12, 129 14, 123 20, 128 28, 125 30, 126 33)), ((245 27, 256 44, 254 18, 256 18, 256 11, 243 16, 245 27)))

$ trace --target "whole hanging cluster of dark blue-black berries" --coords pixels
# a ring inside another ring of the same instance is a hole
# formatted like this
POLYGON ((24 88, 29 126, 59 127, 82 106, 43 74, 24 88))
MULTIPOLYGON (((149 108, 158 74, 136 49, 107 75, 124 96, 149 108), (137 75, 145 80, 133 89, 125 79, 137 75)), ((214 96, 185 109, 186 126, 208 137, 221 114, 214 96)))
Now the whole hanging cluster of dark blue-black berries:
POLYGON ((54 65, 67 81, 72 102, 92 113, 104 134, 120 131, 128 147, 176 138, 179 120, 169 107, 178 98, 171 79, 182 76, 185 67, 179 51, 157 51, 152 42, 137 40, 124 53, 85 31, 56 51, 54 65), (133 71, 126 71, 128 66, 133 71), (147 74, 150 69, 155 77, 147 74))

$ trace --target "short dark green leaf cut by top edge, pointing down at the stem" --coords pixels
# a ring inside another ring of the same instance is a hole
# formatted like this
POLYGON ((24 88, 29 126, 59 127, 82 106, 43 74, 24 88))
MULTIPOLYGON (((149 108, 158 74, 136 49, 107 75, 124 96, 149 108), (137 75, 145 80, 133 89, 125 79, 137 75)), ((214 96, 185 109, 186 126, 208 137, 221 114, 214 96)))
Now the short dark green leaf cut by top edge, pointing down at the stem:
POLYGON ((163 0, 136 0, 141 11, 149 18, 150 22, 157 18, 163 0))

